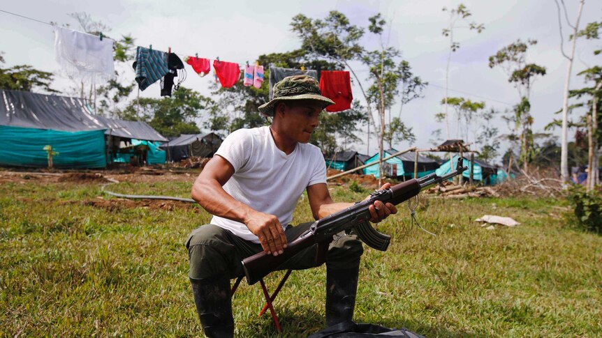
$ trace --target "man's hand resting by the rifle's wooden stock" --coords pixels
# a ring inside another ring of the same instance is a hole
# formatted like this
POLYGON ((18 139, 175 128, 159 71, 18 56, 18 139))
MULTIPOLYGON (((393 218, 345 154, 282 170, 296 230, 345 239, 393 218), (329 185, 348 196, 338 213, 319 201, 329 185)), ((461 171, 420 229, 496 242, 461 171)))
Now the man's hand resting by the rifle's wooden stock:
POLYGON ((278 256, 286 248, 286 236, 278 217, 252 211, 244 220, 249 231, 259 238, 263 252, 278 256))

